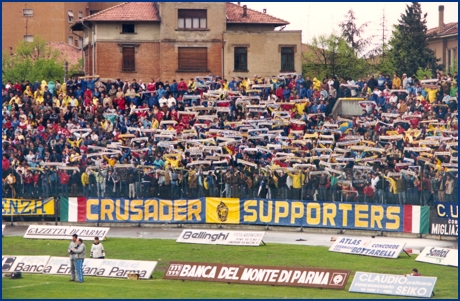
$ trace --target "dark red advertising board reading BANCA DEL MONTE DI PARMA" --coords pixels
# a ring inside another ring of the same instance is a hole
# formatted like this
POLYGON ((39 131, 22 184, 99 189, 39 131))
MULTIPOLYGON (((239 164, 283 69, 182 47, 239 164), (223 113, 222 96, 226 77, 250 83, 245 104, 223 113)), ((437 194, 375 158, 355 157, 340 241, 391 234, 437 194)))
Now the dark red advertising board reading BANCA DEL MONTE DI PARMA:
POLYGON ((344 289, 350 271, 170 262, 163 279, 344 289))

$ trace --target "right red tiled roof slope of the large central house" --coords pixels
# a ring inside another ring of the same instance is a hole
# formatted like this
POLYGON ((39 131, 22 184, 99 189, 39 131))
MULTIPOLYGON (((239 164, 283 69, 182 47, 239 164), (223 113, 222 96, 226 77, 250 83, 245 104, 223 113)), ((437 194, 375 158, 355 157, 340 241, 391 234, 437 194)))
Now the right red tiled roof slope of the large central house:
POLYGON ((247 16, 243 16, 243 12, 243 6, 227 3, 227 23, 273 24, 278 26, 289 24, 287 21, 250 8, 247 8, 247 16))

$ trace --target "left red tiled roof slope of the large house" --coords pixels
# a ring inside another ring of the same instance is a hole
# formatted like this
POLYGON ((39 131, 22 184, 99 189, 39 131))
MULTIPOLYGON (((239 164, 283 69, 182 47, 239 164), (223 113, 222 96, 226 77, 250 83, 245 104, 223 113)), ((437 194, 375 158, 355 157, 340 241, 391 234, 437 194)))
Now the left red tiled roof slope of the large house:
POLYGON ((94 15, 77 20, 81 21, 160 21, 160 13, 155 2, 124 2, 94 15))

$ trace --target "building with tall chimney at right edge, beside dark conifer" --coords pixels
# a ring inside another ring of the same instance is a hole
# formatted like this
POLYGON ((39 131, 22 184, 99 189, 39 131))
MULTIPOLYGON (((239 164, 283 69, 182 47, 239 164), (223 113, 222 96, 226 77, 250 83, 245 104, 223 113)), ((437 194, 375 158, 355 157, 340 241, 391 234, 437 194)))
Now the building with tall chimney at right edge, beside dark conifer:
POLYGON ((458 68, 458 21, 444 23, 444 6, 439 6, 439 25, 427 31, 432 37, 428 40, 428 47, 435 52, 440 64, 445 70, 455 65, 458 68))

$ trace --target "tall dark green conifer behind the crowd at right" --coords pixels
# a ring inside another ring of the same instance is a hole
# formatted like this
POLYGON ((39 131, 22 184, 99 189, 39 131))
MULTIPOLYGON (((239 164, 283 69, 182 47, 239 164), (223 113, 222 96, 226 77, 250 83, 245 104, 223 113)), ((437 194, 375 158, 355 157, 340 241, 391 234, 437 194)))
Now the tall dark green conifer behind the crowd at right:
POLYGON ((398 74, 416 74, 419 67, 436 70, 437 59, 434 51, 428 48, 426 16, 422 16, 420 3, 406 5, 399 24, 394 26, 390 39, 389 56, 398 74))

